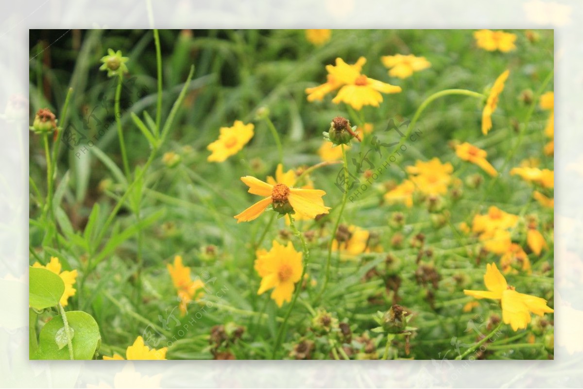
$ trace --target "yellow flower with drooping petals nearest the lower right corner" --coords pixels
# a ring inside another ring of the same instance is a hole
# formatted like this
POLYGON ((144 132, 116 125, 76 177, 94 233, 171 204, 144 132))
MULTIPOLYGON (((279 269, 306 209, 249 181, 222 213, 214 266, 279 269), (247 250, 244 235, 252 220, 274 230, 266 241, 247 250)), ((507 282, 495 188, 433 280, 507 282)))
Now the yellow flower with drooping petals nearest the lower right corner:
POLYGON ((463 293, 477 299, 500 300, 502 320, 505 324, 510 324, 514 331, 526 328, 526 325, 531 322, 531 313, 544 316, 545 313, 554 312, 546 305, 545 299, 518 293, 514 287, 510 287, 495 263, 487 264, 484 284, 488 291, 465 289, 463 293))

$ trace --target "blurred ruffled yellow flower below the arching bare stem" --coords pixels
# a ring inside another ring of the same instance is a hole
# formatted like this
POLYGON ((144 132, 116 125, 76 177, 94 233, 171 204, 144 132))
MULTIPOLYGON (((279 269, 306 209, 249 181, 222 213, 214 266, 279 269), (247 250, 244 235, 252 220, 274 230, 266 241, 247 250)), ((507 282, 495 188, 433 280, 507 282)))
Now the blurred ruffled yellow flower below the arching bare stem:
POLYGON ((442 164, 436 157, 427 162, 416 161, 415 166, 408 166, 406 171, 420 192, 425 195, 443 195, 451 183, 454 167, 449 162, 442 164))

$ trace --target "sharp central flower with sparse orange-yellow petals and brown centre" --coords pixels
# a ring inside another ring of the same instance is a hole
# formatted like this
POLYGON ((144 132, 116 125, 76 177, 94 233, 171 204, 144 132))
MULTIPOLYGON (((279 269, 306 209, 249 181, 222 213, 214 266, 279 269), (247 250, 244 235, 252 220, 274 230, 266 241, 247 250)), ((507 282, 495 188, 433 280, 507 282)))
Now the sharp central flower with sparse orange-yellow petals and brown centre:
POLYGON ((270 185, 252 176, 241 177, 241 181, 249 187, 249 193, 265 198, 236 215, 237 223, 254 220, 270 204, 273 204, 274 210, 283 213, 289 213, 293 210, 296 214, 310 219, 320 214, 326 214, 330 209, 330 207, 324 206, 324 200, 322 200, 322 196, 326 195, 324 190, 290 188, 285 183, 270 185))

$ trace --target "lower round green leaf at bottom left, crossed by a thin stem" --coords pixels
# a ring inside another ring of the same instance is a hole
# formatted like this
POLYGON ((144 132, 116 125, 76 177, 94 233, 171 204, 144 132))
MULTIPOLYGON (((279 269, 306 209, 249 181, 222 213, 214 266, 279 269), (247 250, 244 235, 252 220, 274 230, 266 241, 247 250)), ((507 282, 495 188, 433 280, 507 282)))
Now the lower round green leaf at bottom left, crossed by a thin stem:
MULTIPOLYGON (((73 357, 75 359, 93 359, 97 348, 101 344, 99 326, 93 317, 82 311, 67 312, 69 327, 74 331, 71 340, 73 344, 73 357)), ((31 359, 69 359, 69 349, 66 346, 59 347, 62 340, 57 342, 58 333, 62 331, 59 338, 66 337, 64 323, 61 316, 55 316, 44 325, 38 336, 38 350, 31 359)))

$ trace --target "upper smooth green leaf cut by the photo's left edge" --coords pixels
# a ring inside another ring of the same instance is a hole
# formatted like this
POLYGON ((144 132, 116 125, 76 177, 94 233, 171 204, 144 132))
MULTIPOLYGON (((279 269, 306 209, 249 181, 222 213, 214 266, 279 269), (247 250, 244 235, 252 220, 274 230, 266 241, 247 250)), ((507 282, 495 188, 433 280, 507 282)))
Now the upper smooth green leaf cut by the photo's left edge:
POLYGON ((65 292, 65 283, 57 274, 41 267, 29 267, 29 305, 34 309, 56 306, 65 292))

